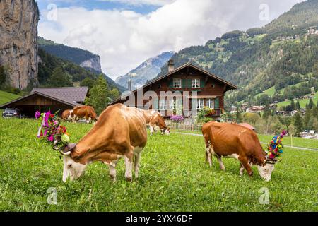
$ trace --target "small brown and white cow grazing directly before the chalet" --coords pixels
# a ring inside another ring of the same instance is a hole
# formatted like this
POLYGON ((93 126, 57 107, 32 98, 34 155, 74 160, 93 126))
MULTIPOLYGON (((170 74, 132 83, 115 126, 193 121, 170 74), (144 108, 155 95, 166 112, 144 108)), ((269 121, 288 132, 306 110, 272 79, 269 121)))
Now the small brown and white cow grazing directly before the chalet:
POLYGON ((143 115, 146 119, 146 124, 150 126, 151 135, 155 132, 155 128, 159 127, 162 134, 170 135, 170 128, 165 124, 165 119, 159 112, 155 110, 143 110, 143 115))

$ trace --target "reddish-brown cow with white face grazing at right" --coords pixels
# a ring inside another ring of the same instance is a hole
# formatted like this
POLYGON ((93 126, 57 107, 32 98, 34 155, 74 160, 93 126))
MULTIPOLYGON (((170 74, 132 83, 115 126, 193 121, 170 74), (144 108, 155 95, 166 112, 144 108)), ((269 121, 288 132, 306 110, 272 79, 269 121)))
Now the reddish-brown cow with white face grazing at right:
POLYGON ((266 181, 271 180, 274 165, 267 159, 261 148, 259 138, 254 131, 237 124, 210 121, 202 126, 206 141, 206 160, 212 166, 212 155, 225 170, 222 157, 233 157, 241 162, 240 176, 244 169, 252 176, 251 165, 257 165, 260 176, 266 181))

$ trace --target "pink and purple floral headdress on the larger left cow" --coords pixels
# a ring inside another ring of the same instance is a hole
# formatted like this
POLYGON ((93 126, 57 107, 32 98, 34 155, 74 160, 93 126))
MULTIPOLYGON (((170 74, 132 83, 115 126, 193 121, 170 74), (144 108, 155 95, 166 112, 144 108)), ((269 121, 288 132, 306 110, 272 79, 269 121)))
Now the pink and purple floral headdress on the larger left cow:
POLYGON ((39 120, 39 130, 37 137, 42 138, 53 145, 54 150, 59 150, 69 143, 69 133, 66 132, 65 126, 59 125, 57 112, 35 112, 35 118, 39 120))

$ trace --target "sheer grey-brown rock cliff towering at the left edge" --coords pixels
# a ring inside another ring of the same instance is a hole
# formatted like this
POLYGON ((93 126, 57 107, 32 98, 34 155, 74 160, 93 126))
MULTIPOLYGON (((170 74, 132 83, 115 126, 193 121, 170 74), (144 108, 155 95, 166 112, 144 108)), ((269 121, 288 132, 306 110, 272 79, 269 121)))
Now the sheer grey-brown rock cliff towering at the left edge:
POLYGON ((24 89, 37 84, 37 23, 34 0, 0 0, 0 64, 6 83, 24 89))

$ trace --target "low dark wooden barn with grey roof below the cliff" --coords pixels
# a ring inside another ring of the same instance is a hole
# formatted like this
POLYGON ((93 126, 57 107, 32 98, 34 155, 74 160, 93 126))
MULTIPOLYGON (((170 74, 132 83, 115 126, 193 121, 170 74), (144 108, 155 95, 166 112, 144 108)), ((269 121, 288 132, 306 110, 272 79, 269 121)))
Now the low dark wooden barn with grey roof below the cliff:
POLYGON ((73 109, 83 105, 88 87, 33 88, 30 94, 0 106, 0 109, 18 108, 25 117, 35 117, 35 112, 51 112, 73 109))

